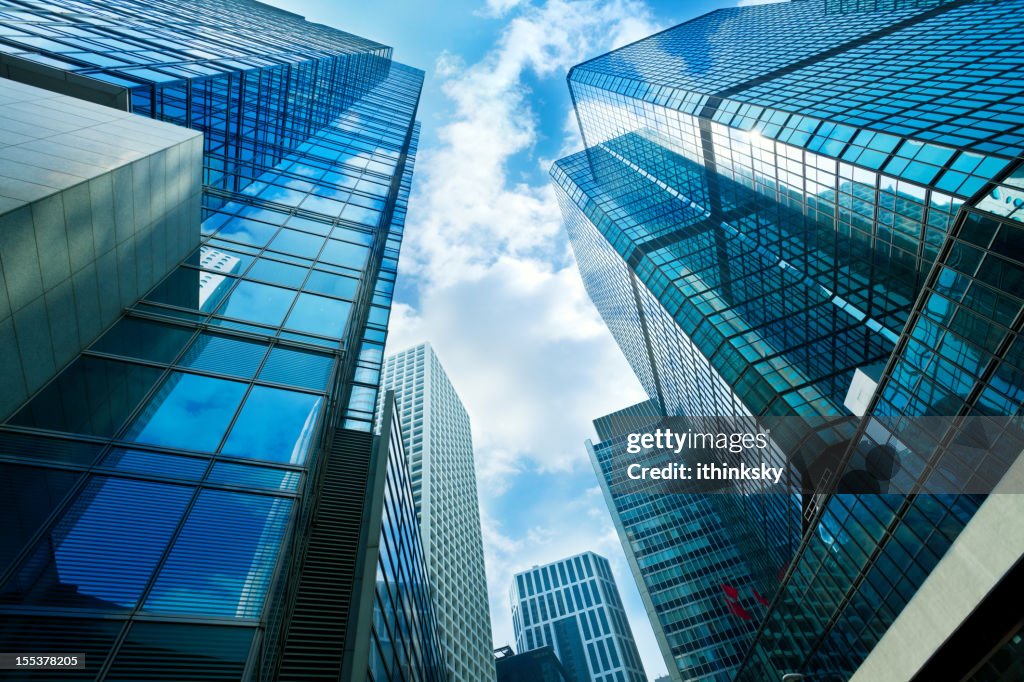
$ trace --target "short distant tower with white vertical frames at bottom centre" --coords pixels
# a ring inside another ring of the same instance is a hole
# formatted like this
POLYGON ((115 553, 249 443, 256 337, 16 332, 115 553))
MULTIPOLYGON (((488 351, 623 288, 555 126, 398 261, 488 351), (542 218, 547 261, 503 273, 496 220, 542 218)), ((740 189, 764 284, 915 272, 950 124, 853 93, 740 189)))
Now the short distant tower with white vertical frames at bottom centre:
POLYGON ((608 560, 593 552, 516 573, 509 592, 516 648, 554 648, 572 682, 644 682, 608 560))

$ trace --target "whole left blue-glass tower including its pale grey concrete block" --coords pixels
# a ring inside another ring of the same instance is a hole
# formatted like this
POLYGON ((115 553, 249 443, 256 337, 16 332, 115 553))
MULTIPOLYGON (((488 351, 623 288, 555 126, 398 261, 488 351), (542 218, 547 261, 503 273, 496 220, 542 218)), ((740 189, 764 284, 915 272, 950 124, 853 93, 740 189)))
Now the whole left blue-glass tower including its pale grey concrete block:
POLYGON ((62 679, 445 679, 400 437, 373 433, 422 72, 252 0, 5 0, 0 45, 18 92, 91 102, 0 103, 62 134, 3 154, 63 209, 4 216, 37 247, 4 240, 7 298, 38 271, 46 306, 0 326, 30 393, 0 428, 0 649, 84 652, 30 674, 62 679))

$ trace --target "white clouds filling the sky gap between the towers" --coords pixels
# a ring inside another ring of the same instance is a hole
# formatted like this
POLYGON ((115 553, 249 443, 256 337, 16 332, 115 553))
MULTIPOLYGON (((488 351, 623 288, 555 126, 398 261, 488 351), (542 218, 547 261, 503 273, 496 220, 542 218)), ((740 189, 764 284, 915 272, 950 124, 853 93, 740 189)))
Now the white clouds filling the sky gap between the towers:
MULTIPOLYGON (((472 419, 492 616, 504 643, 509 581, 531 563, 590 549, 612 560, 621 589, 635 589, 592 483, 528 501, 548 512, 528 528, 500 513, 517 476, 585 474, 591 420, 644 398, 584 291, 554 191, 513 179, 510 162, 550 163, 534 155, 540 121, 528 78, 561 80, 657 27, 637 0, 489 0, 486 11, 506 20, 492 50, 475 63, 447 52, 435 63, 452 112, 439 143, 417 160, 399 276, 419 298, 395 304, 388 346, 430 341, 472 419)), ((580 144, 571 113, 562 135, 561 153, 580 144)), ((641 653, 657 671, 646 617, 632 603, 641 653)))

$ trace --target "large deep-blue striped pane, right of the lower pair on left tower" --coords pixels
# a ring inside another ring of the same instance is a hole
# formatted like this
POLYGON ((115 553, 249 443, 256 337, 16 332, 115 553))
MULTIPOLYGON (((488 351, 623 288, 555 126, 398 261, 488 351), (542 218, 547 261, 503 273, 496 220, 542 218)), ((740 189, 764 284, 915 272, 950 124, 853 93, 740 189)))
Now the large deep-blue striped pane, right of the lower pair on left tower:
POLYGON ((258 616, 291 508, 281 498, 203 491, 145 608, 258 616))

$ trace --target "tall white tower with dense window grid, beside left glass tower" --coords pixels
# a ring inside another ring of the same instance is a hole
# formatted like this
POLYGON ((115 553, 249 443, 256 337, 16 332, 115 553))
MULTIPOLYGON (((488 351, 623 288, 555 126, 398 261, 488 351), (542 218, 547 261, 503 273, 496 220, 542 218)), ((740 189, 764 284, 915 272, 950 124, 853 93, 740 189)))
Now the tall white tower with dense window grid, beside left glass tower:
POLYGON ((429 343, 388 355, 381 385, 398 401, 450 674, 494 680, 469 415, 429 343))

